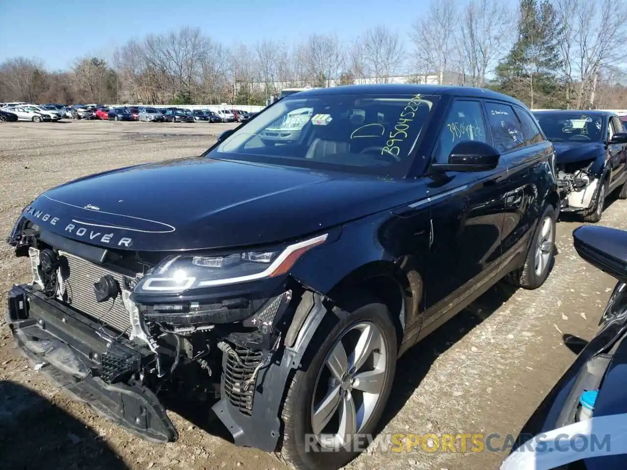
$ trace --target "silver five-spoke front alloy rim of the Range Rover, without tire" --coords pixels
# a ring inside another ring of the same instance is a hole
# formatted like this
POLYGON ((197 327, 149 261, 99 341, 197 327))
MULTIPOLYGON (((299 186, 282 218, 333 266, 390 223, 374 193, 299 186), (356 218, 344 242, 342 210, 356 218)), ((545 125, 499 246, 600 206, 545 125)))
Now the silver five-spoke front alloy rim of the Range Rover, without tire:
POLYGON ((312 431, 322 447, 339 449, 366 426, 386 380, 387 345, 377 325, 349 326, 320 368, 312 398, 312 431))

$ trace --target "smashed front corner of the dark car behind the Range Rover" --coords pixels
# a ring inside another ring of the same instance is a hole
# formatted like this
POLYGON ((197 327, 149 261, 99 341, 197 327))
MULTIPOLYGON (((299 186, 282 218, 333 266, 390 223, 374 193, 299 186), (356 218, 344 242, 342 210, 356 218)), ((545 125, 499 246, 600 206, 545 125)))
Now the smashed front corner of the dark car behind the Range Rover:
POLYGON ((601 182, 595 163, 596 159, 586 159, 557 164, 561 211, 578 212, 593 207, 601 182))

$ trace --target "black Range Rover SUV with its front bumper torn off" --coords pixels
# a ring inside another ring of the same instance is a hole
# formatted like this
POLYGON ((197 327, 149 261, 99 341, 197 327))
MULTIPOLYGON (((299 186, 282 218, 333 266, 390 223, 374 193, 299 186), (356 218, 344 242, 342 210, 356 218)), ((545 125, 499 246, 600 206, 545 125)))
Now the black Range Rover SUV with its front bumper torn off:
POLYGON ((164 394, 215 390, 236 444, 337 469, 376 428, 399 355, 503 277, 542 285, 558 209, 553 146, 512 98, 303 91, 198 157, 37 197, 9 236, 33 281, 8 323, 137 434, 176 439, 164 394))

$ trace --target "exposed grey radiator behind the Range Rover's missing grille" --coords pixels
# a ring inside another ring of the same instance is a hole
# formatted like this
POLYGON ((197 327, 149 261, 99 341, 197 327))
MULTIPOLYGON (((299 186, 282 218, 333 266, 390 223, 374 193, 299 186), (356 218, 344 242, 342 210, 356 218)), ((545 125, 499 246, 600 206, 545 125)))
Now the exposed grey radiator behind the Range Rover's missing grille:
POLYGON ((65 273, 65 269, 61 268, 68 305, 86 313, 95 320, 107 323, 119 332, 128 332, 130 330, 130 318, 129 313, 124 308, 122 295, 102 303, 97 302, 93 285, 105 274, 111 274, 119 285, 123 286, 124 274, 127 276, 134 276, 134 274, 112 271, 65 251, 59 251, 59 254, 68 260, 68 272, 65 273))

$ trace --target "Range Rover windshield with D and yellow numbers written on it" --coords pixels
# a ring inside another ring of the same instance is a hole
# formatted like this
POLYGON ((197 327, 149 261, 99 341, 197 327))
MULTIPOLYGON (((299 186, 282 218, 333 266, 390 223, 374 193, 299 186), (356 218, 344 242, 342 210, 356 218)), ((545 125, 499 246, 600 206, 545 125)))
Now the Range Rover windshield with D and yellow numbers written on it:
POLYGON ((214 158, 406 174, 438 97, 310 95, 280 100, 210 152, 214 158))

